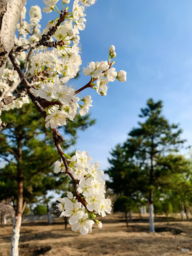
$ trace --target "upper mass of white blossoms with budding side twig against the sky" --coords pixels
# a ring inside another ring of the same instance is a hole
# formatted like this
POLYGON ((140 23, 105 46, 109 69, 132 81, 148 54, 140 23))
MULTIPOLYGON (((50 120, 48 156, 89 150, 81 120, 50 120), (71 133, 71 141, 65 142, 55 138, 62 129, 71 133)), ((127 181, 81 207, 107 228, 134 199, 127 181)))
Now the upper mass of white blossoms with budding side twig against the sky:
MULTIPOLYGON (((46 4, 44 11, 55 10, 57 1, 45 0, 44 2, 46 4)), ((63 5, 65 3, 66 1, 63 1, 63 5)), ((74 78, 80 68, 80 36, 78 34, 85 28, 85 7, 94 3, 95 1, 75 0, 73 12, 66 13, 65 21, 58 26, 53 35, 53 39, 60 41, 60 45, 53 50, 36 53, 32 57, 31 74, 37 77, 43 75, 43 78, 36 82, 33 92, 39 97, 54 102, 54 105, 50 103, 50 106, 46 108, 46 127, 55 128, 65 125, 68 119, 74 120, 78 111, 81 116, 84 116, 92 107, 90 95, 82 97, 82 99, 76 97, 75 95, 79 91, 75 92, 72 87, 66 85, 66 82, 74 78), (80 100, 84 103, 83 105, 79 103, 80 100)), ((55 21, 49 22, 48 28, 51 28, 57 21, 55 19, 55 21)), ((110 60, 115 56, 114 46, 111 46, 108 61, 91 62, 88 68, 83 70, 86 76, 90 75, 91 77, 89 86, 95 88, 97 93, 102 96, 107 94, 108 82, 113 82, 116 78, 122 82, 126 80, 125 71, 121 70, 117 73, 115 68, 112 68, 114 62, 111 63, 110 60), (94 83, 96 80, 97 83, 94 83)))

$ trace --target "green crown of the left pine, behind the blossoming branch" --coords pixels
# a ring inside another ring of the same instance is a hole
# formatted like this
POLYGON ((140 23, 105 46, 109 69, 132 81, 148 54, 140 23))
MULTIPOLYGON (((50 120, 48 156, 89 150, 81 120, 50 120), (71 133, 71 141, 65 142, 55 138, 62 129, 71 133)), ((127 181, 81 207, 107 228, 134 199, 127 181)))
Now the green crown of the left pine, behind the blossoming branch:
MULTIPOLYGON (((0 169, 0 201, 11 198, 16 215, 22 215, 26 203, 36 202, 48 191, 65 190, 68 178, 53 173, 58 152, 51 129, 41 126, 44 120, 32 104, 4 111, 2 117, 8 124, 0 134, 0 159, 6 163, 0 169)), ((87 115, 61 127, 60 132, 69 135, 65 149, 75 144, 78 129, 87 129, 94 122, 87 115)))

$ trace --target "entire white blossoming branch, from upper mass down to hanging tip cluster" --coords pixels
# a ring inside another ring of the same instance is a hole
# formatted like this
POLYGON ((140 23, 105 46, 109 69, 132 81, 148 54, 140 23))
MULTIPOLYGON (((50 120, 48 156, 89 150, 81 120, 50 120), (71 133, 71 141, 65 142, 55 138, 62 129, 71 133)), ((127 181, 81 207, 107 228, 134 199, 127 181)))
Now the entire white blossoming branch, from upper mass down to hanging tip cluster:
POLYGON ((43 1, 46 4, 43 11, 55 11, 59 17, 49 21, 41 33, 40 7, 31 7, 29 23, 25 21, 26 8, 23 7, 17 26, 16 49, 9 54, 11 62, 8 60, 0 80, 1 98, 13 96, 13 100, 9 105, 1 105, 0 114, 4 110, 22 107, 31 98, 44 117, 46 128, 53 129, 55 146, 62 158, 55 162, 55 173, 64 172, 70 175, 74 183, 74 194, 68 192, 66 197, 58 198, 58 214, 60 217, 69 217, 72 230, 87 235, 91 233, 94 223, 102 228, 96 215, 105 217, 112 210, 110 198, 105 198, 105 181, 102 180, 104 173, 99 170, 98 162, 90 164, 92 159, 87 151, 77 150, 71 158, 64 154, 60 147, 60 142, 64 142, 64 139, 58 134, 56 127, 65 125, 68 120, 73 121, 78 113, 84 116, 89 112, 92 107, 91 96, 78 97, 78 93, 89 87, 105 96, 108 83, 114 80, 125 82, 127 73, 113 67, 116 53, 114 46, 110 46, 108 60, 91 62, 83 69, 83 74, 90 76, 87 85, 78 90, 69 86, 68 81, 75 78, 82 64, 79 34, 85 29, 85 9, 95 4, 96 0, 74 0, 71 12, 68 11, 69 6, 66 6, 70 4, 70 0, 62 1, 61 10, 56 6, 59 0, 43 1), (21 81, 25 88, 16 97, 13 92, 21 81))

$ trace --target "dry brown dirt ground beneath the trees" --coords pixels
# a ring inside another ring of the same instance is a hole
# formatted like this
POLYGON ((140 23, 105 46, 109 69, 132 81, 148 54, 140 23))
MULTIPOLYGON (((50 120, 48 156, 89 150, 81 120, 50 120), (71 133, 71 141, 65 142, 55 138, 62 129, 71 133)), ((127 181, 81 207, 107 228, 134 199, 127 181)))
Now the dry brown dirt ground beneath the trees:
MULTIPOLYGON (((192 222, 156 218, 156 233, 149 233, 147 217, 134 215, 129 227, 122 215, 113 214, 103 219, 100 230, 82 236, 61 219, 48 225, 46 221, 23 223, 19 242, 19 256, 175 256, 192 255, 192 222), (188 249, 190 252, 182 252, 188 249)), ((12 226, 0 228, 0 255, 8 256, 12 226)))

